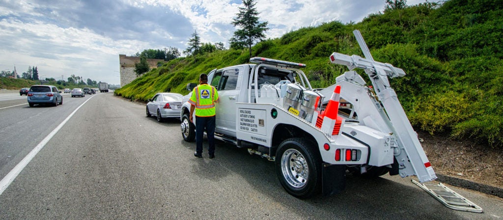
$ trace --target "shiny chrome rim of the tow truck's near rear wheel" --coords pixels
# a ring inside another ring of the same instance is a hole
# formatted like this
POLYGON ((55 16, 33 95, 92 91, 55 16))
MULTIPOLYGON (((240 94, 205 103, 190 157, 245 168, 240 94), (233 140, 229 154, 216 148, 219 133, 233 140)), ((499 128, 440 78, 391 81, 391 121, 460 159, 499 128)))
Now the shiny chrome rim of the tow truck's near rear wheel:
POLYGON ((307 183, 309 167, 307 161, 299 151, 288 149, 281 157, 281 170, 285 180, 291 186, 300 188, 307 183))

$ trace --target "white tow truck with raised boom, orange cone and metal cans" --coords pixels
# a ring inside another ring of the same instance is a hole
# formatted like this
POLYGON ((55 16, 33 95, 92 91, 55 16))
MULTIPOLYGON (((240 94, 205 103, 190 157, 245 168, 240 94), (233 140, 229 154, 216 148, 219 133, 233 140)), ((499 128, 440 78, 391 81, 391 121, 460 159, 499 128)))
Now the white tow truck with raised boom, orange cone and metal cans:
MULTIPOLYGON (((322 90, 311 87, 300 63, 254 57, 250 62, 255 64, 212 70, 208 82, 220 99, 215 138, 275 161, 281 185, 299 198, 343 190, 347 171, 436 179, 388 81, 405 72, 374 61, 360 33, 354 33, 366 58, 333 53, 330 62, 350 71, 322 90), (365 71, 372 86, 355 68, 365 71)), ((194 86, 187 85, 189 90, 194 86)), ((181 130, 191 142, 195 126, 189 121, 189 97, 183 100, 181 130)))

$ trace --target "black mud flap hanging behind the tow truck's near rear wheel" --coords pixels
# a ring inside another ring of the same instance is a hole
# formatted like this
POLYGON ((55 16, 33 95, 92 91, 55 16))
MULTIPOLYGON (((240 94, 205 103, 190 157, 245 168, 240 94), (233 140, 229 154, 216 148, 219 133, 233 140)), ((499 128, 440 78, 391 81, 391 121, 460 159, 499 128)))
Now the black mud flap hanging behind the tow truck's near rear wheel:
POLYGON ((322 166, 322 196, 331 196, 337 194, 346 188, 346 165, 322 166))

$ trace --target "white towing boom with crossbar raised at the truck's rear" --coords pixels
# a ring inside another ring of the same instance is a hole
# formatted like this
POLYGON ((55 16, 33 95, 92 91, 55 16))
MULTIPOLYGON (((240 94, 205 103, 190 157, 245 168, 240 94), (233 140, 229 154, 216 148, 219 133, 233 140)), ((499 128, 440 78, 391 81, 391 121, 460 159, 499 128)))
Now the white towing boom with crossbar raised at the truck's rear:
MULTIPOLYGON (((420 182, 426 182, 437 178, 428 157, 426 156, 421 143, 417 139, 417 134, 412 129, 402 105, 398 101, 395 91, 391 88, 388 76, 393 78, 404 76, 405 72, 389 63, 376 62, 372 58, 370 51, 358 30, 353 32, 358 43, 367 58, 357 55, 348 56, 340 53, 333 53, 330 56, 332 63, 346 65, 350 70, 355 68, 364 69, 374 86, 374 91, 385 108, 389 121, 390 131, 398 142, 399 149, 394 155, 399 165, 399 174, 402 177, 416 175, 420 182)), ((343 88, 344 89, 344 88, 343 88)))

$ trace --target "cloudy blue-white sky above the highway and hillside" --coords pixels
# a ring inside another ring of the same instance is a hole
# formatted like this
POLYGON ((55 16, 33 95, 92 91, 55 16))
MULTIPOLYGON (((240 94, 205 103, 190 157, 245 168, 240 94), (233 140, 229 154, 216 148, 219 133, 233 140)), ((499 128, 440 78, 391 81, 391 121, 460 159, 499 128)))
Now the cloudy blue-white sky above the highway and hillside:
MULTIPOLYGON (((408 0, 416 5, 425 0, 408 0)), ((267 38, 323 22, 360 22, 385 0, 256 0, 267 38)), ((0 0, 0 71, 41 78, 74 74, 120 84, 119 54, 176 47, 194 30, 202 42, 228 47, 241 0, 0 0)))

